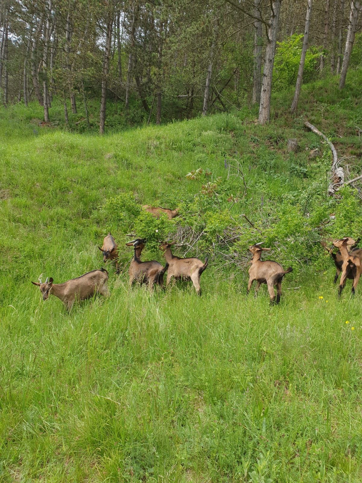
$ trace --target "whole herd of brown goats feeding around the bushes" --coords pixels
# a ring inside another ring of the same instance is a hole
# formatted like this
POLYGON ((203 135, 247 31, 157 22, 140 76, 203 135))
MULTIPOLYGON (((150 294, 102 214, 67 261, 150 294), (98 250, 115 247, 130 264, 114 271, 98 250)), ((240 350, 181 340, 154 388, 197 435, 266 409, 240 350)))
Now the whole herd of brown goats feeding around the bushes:
MULTIPOLYGON (((156 217, 159 217, 162 212, 166 213, 169 219, 178 215, 176 210, 169 210, 167 208, 144 205, 143 209, 152 213, 153 216, 156 217)), ((325 241, 321 241, 322 246, 334 259, 337 270, 334 277, 334 283, 337 281, 340 272, 342 272, 338 296, 341 295, 347 278, 353 280, 352 294, 355 293, 355 288, 357 287, 362 272, 362 249, 355 246, 358 241, 356 242, 349 237, 335 240, 333 244, 339 249, 337 253, 334 253, 331 248, 327 247, 325 241), (349 250, 351 250, 351 252, 349 252, 349 250)), ((142 262, 140 256, 145 246, 145 242, 146 241, 143 239, 137 239, 126 243, 126 246, 132 246, 134 250, 134 256, 130 262, 128 270, 130 286, 135 282, 149 284, 151 290, 153 290, 154 285, 163 286, 164 274, 167 270, 166 285, 170 284, 172 279, 191 280, 194 284, 196 293, 201 295, 200 277, 202 272, 208 266, 208 258, 206 258, 205 263, 203 263, 199 258, 181 258, 175 256, 170 249, 170 246, 173 245, 174 242, 171 243, 165 241, 159 246, 159 249, 164 252, 166 259, 165 267, 155 260, 142 262)), ((283 270, 282 266, 275 261, 262 261, 262 252, 269 251, 270 248, 262 248, 261 245, 262 242, 255 243, 249 247, 249 250, 252 253, 252 259, 251 267, 249 269, 247 293, 249 293, 251 285, 254 280, 256 280, 255 293, 257 293, 261 284, 266 284, 268 287, 270 302, 278 303, 281 297, 282 279, 284 275, 290 273, 293 269, 292 267, 289 267, 287 270, 283 270), (274 292, 275 285, 277 286, 277 296, 274 292)), ((102 247, 98 248, 103 254, 103 261, 113 260, 116 266, 116 273, 119 273, 118 246, 111 233, 104 238, 102 247)), ((31 283, 39 286, 43 300, 46 300, 50 294, 53 294, 57 298, 60 298, 66 309, 70 311, 75 300, 84 300, 97 293, 102 294, 103 296, 108 296, 109 290, 107 282, 108 272, 104 268, 101 268, 99 270, 92 270, 85 273, 78 278, 68 280, 63 284, 53 284, 53 278, 51 277, 47 278, 45 283, 42 283, 41 279, 39 279, 39 283, 31 283)))

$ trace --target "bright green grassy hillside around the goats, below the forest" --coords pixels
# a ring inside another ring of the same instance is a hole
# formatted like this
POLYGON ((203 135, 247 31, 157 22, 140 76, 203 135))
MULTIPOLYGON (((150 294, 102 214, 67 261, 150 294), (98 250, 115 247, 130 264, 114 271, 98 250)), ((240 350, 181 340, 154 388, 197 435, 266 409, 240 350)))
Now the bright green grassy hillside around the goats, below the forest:
POLYGON ((245 110, 100 138, 39 126, 35 104, 0 111, 0 481, 361 481, 362 287, 337 300, 319 244, 357 238, 361 207, 352 189, 326 197, 330 154, 303 128, 306 116, 358 173, 352 74, 343 94, 335 79, 305 86, 296 119, 289 93, 274 99, 265 128, 245 110), (236 161, 245 194, 227 179, 236 161), (186 178, 197 168, 220 178, 218 197, 186 178), (181 218, 139 213, 153 202, 181 218), (70 315, 55 297, 44 303, 30 281, 102 266, 109 229, 124 269, 107 265, 110 298, 70 315), (226 243, 225 230, 238 238, 226 243), (200 234, 175 253, 210 256, 203 296, 187 284, 129 290, 131 232, 147 232, 142 257, 161 262, 158 233, 200 234), (247 247, 261 239, 294 269, 279 306, 265 287, 246 296, 247 247))

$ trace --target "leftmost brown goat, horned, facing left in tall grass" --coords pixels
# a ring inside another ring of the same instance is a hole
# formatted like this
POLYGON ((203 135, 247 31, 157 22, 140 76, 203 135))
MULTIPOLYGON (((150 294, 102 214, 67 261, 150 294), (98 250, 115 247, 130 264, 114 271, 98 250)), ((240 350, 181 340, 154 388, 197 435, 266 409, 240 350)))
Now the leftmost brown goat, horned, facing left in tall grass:
POLYGON ((52 277, 48 277, 44 284, 41 279, 39 279, 39 283, 31 283, 40 288, 43 300, 46 300, 50 294, 53 294, 57 298, 60 298, 69 312, 75 299, 84 300, 85 298, 92 297, 95 293, 107 297, 109 295, 107 281, 108 272, 101 268, 100 270, 85 273, 81 277, 68 280, 64 284, 53 284, 52 277))

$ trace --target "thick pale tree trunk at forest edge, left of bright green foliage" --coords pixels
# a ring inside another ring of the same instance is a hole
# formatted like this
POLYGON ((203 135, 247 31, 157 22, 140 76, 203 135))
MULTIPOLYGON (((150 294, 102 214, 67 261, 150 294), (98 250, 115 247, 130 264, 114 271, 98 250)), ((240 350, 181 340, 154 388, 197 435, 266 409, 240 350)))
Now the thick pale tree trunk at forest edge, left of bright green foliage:
POLYGON ((278 21, 280 14, 281 0, 275 0, 272 4, 270 27, 265 51, 265 64, 263 72, 263 83, 260 95, 259 124, 265 124, 270 120, 270 98, 273 79, 273 66, 275 49, 277 46, 278 21))

